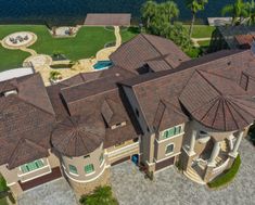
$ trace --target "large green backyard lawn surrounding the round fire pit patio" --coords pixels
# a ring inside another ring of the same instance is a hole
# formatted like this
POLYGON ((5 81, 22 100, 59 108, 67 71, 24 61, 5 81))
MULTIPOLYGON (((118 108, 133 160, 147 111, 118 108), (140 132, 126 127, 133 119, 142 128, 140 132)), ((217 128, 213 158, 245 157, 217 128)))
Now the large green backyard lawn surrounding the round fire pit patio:
MULTIPOLYGON (((35 33, 38 39, 30 48, 38 53, 51 55, 54 52, 61 52, 73 61, 91 57, 106 42, 115 40, 114 33, 103 27, 81 27, 75 38, 53 38, 47 27, 40 25, 2 25, 0 26, 0 39, 15 31, 35 33)), ((23 60, 28 56, 21 51, 5 51, 0 48, 0 69, 21 65, 23 60)))

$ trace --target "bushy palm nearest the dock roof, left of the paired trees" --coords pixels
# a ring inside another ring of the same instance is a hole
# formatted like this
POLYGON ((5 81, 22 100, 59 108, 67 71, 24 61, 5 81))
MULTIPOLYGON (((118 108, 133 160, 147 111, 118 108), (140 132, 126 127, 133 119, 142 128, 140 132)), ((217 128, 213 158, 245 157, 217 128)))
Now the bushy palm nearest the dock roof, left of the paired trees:
POLYGON ((146 1, 141 8, 142 20, 145 22, 146 29, 150 27, 151 21, 155 16, 156 9, 157 3, 152 0, 146 1))

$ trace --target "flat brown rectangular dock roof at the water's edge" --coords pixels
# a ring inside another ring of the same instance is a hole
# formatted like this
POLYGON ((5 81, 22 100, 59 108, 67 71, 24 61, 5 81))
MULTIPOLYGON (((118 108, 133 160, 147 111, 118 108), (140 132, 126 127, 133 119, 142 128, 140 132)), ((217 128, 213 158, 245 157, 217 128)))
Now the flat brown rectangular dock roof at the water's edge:
POLYGON ((85 20, 88 26, 130 26, 129 13, 89 13, 85 20))

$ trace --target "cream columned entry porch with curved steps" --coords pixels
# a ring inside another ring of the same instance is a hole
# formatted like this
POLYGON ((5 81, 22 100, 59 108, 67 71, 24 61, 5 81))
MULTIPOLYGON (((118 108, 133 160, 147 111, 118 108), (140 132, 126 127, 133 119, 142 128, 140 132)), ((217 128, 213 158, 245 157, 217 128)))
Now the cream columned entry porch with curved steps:
POLYGON ((205 150, 200 155, 194 152, 193 144, 194 141, 196 142, 201 139, 195 139, 194 136, 192 134, 190 150, 187 151, 190 163, 184 169, 184 175, 197 183, 205 184, 231 167, 238 156, 243 131, 238 132, 238 137, 230 134, 222 141, 213 140, 213 149, 211 151, 205 150))

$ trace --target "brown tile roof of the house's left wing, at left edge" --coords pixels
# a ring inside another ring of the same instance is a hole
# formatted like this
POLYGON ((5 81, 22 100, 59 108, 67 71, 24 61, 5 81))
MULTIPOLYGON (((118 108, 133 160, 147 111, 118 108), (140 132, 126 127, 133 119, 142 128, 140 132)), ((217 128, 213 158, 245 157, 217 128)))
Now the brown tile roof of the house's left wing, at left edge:
POLYGON ((44 157, 54 111, 39 74, 0 82, 0 164, 9 168, 44 157))

